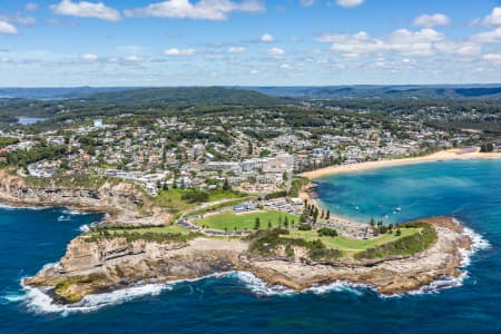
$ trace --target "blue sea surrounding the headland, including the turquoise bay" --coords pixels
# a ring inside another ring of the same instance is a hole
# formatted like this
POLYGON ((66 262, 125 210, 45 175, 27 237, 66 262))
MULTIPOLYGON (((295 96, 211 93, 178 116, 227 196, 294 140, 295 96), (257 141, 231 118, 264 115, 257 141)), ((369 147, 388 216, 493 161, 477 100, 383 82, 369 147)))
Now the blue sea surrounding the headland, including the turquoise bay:
POLYGON ((78 227, 99 216, 0 209, 0 333, 501 333, 501 160, 324 178, 318 194, 333 212, 360 219, 454 214, 491 246, 472 256, 461 286, 436 293, 385 298, 367 288, 335 285, 321 294, 265 296, 259 284, 229 275, 163 291, 138 287, 136 293, 156 293, 134 298, 117 299, 122 292, 101 296, 87 306, 121 302, 97 311, 42 312, 35 306, 49 306, 33 303, 32 292, 27 296, 21 277, 57 262, 78 227), (393 215, 396 206, 402 212, 393 215), (60 216, 70 219, 59 222, 60 216))

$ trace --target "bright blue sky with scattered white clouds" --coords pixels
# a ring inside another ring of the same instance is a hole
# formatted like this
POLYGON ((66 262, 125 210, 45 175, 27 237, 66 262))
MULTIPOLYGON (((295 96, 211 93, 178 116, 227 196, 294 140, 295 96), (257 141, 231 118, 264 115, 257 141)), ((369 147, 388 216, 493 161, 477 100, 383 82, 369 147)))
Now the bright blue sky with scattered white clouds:
POLYGON ((490 82, 500 0, 0 0, 0 87, 490 82))

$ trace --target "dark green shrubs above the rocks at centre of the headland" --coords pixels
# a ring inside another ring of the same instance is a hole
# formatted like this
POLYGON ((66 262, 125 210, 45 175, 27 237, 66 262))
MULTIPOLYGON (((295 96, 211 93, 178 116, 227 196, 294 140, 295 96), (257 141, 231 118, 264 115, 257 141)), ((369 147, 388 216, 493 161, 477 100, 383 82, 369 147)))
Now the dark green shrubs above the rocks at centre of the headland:
POLYGON ((248 237, 249 250, 262 256, 272 256, 276 255, 279 247, 284 247, 285 256, 293 257, 294 247, 302 247, 307 249, 308 256, 314 261, 335 259, 342 256, 340 250, 327 248, 320 239, 310 242, 303 238, 289 238, 288 234, 287 229, 281 228, 258 230, 248 237))

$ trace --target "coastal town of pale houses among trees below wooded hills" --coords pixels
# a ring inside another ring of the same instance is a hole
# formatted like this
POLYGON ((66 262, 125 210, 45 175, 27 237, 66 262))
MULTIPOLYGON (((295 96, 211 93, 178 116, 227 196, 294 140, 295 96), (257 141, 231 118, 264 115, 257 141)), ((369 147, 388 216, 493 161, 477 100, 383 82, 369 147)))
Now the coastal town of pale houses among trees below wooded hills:
MULTIPOLYGON (((442 117, 433 110, 423 112, 430 119, 442 117)), ((37 134, 16 127, 0 132, 8 144, 0 148, 0 164, 19 166, 20 175, 36 178, 128 179, 150 196, 164 188, 215 190, 225 183, 242 193, 266 195, 286 190, 294 175, 321 167, 482 144, 479 131, 441 130, 426 126, 419 115, 393 115, 387 121, 365 114, 338 110, 318 117, 314 126, 295 125, 284 111, 256 109, 248 116, 160 117, 138 126, 131 125, 134 115, 92 117, 37 134), (16 154, 29 156, 39 148, 61 153, 40 159, 16 154)))

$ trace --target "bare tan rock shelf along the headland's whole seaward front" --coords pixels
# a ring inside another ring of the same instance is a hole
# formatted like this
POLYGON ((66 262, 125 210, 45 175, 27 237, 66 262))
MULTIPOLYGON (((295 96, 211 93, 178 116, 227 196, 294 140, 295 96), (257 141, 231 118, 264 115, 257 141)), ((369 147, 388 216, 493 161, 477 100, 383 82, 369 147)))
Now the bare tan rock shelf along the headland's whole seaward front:
POLYGON ((460 275, 461 249, 471 240, 450 218, 428 219, 436 243, 410 257, 385 261, 315 263, 308 258, 261 258, 248 244, 234 239, 196 238, 188 243, 127 243, 125 238, 89 243, 73 239, 58 266, 26 279, 33 286, 55 286, 57 299, 79 301, 87 294, 137 282, 197 278, 227 271, 248 271, 271 285, 304 289, 336 281, 367 284, 383 294, 414 291, 434 279, 460 275))

